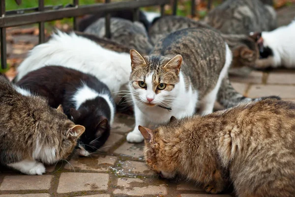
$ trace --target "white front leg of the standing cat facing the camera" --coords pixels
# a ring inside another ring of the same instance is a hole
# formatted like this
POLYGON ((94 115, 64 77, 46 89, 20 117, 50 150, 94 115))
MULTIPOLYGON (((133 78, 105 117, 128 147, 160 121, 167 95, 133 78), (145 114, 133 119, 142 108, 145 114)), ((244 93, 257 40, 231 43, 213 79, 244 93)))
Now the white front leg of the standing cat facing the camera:
POLYGON ((135 115, 135 127, 133 131, 128 133, 127 135, 127 141, 131 143, 139 143, 144 140, 144 137, 138 130, 138 126, 144 126, 147 127, 149 124, 149 121, 146 119, 145 115, 140 111, 140 109, 134 105, 134 115, 135 115))

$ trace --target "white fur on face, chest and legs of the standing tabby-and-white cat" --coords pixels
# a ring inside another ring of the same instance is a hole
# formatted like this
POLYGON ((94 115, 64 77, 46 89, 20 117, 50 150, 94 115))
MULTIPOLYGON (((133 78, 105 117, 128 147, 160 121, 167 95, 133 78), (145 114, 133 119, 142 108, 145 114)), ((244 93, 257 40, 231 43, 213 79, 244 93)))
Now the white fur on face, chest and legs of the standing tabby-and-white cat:
MULTIPOLYGON (((228 45, 225 45, 226 61, 224 67, 219 75, 216 86, 202 100, 202 114, 212 113, 221 81, 227 75, 228 68, 231 65, 232 52, 228 45)), ((153 73, 146 77, 147 90, 142 88, 134 89, 132 84, 130 84, 129 88, 133 92, 132 99, 134 102, 135 128, 127 135, 127 141, 129 142, 141 142, 144 140, 143 136, 138 130, 139 125, 148 126, 149 123, 163 124, 168 122, 171 116, 175 116, 177 119, 186 116, 192 116, 195 113, 197 104, 199 103, 198 91, 193 90, 192 86, 189 86, 188 90, 185 89, 185 82, 181 70, 179 73, 179 83, 175 85, 174 89, 172 91, 162 90, 158 94, 155 94, 152 90, 152 74, 153 73), (147 106, 147 97, 154 97, 154 100, 150 102, 151 104, 171 107, 172 110, 168 111, 158 106, 147 106), (138 101, 138 99, 140 101, 138 101), (171 103, 167 103, 167 101, 170 99, 171 103)))

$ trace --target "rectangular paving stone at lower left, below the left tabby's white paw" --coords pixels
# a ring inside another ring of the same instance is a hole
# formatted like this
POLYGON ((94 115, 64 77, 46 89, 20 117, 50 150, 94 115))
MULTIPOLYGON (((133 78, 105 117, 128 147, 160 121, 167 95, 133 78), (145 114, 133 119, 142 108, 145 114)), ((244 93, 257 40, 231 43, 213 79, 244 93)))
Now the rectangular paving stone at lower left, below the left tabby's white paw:
POLYGON ((0 190, 48 190, 52 178, 53 175, 5 176, 0 190))

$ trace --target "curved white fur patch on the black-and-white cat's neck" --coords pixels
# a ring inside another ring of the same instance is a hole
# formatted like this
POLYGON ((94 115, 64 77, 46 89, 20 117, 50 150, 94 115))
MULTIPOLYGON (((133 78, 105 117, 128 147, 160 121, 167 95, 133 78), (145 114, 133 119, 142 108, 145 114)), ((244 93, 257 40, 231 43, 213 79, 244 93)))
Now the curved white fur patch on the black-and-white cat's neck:
POLYGON ((87 100, 95 99, 96 97, 101 97, 108 103, 110 110, 111 110, 111 119, 110 119, 110 125, 113 124, 114 116, 115 116, 115 107, 112 103, 112 99, 110 98, 110 95, 107 93, 98 93, 94 89, 90 88, 86 84, 84 84, 82 87, 79 87, 76 91, 76 93, 73 96, 73 101, 75 102, 75 108, 76 110, 79 109, 79 107, 87 100))

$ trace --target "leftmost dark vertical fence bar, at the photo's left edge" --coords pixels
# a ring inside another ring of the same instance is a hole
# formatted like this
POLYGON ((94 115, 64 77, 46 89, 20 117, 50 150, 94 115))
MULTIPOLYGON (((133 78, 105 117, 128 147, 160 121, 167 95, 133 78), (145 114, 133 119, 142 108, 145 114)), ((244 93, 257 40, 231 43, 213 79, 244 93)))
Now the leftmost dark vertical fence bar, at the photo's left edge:
MULTIPOLYGON (((5 17, 5 0, 0 2, 0 15, 5 17)), ((0 43, 1 43, 1 68, 7 68, 6 62, 6 28, 0 28, 0 43)))

